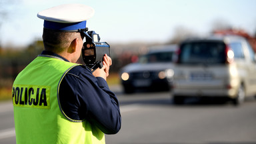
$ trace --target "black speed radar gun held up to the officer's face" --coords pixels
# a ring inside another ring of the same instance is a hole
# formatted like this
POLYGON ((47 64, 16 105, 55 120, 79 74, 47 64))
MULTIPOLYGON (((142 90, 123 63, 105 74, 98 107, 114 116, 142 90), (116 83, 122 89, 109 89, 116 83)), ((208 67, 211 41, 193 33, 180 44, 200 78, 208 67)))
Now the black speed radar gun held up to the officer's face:
POLYGON ((105 54, 110 56, 110 47, 107 42, 100 42, 99 34, 95 31, 81 31, 85 36, 83 43, 82 57, 86 66, 92 71, 103 67, 103 57, 105 54))

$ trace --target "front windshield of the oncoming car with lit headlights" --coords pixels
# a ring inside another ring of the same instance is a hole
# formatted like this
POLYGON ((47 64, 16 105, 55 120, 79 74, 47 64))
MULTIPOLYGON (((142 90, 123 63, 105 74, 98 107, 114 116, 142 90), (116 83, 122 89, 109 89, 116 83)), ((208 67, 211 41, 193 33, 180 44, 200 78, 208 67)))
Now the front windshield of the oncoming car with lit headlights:
POLYGON ((139 57, 139 63, 165 63, 173 60, 173 52, 149 53, 139 57))

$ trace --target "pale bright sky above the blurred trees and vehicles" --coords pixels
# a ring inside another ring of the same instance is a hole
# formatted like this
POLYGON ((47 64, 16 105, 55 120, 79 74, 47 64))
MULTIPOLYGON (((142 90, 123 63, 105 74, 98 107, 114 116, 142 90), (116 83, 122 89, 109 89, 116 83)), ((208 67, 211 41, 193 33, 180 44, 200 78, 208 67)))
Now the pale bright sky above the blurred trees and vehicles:
POLYGON ((256 33, 255 0, 13 0, 5 7, 1 45, 23 47, 41 40, 43 20, 37 13, 67 3, 93 7, 87 27, 109 43, 165 43, 177 27, 207 35, 217 21, 256 33))

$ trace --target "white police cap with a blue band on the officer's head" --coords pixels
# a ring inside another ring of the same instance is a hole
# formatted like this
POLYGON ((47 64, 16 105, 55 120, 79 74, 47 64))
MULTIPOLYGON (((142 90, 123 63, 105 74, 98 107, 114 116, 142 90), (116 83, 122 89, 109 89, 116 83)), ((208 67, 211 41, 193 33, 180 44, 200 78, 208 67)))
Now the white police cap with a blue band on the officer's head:
POLYGON ((57 31, 85 29, 87 19, 93 15, 92 7, 81 4, 59 5, 37 13, 37 17, 45 20, 43 27, 57 31))

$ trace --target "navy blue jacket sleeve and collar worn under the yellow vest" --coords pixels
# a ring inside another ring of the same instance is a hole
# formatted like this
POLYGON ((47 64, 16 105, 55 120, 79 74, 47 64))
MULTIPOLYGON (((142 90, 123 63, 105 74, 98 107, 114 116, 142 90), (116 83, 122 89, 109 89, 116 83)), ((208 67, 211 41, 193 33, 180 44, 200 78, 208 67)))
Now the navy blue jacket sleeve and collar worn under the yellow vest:
MULTIPOLYGON (((42 55, 64 57, 43 51, 42 55)), ((109 90, 102 77, 94 77, 85 65, 73 67, 59 87, 59 101, 64 113, 75 120, 86 119, 105 134, 115 134, 121 129, 121 115, 116 95, 109 90)))

